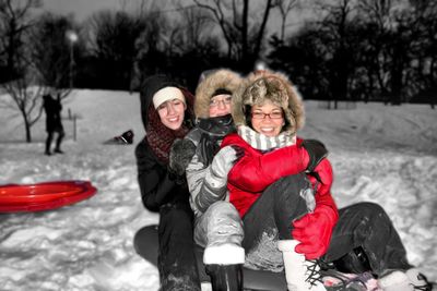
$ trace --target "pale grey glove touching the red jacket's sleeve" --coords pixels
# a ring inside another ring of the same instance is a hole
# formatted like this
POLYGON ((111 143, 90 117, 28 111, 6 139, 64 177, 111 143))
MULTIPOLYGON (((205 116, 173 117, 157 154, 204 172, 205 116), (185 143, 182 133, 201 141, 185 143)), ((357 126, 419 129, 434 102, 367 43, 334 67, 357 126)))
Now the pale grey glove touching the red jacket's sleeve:
POLYGON ((211 163, 210 174, 206 173, 209 184, 212 187, 222 187, 227 183, 227 174, 234 163, 241 157, 243 150, 235 146, 225 146, 215 155, 211 163))

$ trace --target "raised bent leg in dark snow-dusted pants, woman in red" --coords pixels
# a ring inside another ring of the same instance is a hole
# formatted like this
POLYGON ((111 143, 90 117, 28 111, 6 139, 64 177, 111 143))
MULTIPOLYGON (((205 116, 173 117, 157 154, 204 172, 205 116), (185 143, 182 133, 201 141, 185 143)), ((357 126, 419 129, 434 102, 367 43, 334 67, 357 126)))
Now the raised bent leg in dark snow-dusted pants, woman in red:
POLYGON ((245 265, 253 269, 283 269, 277 240, 291 240, 293 220, 308 213, 306 195, 311 185, 305 174, 284 177, 264 190, 243 218, 245 265))

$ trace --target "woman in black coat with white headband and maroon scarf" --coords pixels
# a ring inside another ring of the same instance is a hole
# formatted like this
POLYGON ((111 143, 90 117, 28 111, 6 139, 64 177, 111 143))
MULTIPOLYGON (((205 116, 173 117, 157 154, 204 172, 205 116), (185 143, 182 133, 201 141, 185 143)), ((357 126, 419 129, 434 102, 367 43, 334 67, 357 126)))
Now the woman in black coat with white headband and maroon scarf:
MULTIPOLYGON (((138 182, 144 207, 160 213, 161 290, 200 291, 187 183, 168 171, 173 142, 192 128, 193 96, 168 76, 154 75, 142 84, 140 101, 146 135, 135 148, 138 182)), ((144 257, 143 240, 139 230, 134 247, 144 257)))

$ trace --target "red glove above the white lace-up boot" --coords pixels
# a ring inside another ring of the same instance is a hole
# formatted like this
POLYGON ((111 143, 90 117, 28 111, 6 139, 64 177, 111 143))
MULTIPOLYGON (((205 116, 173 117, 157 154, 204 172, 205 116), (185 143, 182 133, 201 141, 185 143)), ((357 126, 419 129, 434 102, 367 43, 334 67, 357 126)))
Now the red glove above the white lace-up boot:
POLYGON ((338 216, 334 209, 327 205, 318 205, 314 213, 305 215, 293 222, 293 239, 300 243, 295 251, 305 254, 307 259, 319 258, 328 251, 338 216))

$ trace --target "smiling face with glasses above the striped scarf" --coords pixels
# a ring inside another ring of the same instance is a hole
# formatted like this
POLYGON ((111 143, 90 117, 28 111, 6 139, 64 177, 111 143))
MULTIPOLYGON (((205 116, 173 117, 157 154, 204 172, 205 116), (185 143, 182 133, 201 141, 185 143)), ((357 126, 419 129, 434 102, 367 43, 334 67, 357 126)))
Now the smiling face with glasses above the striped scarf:
POLYGON ((251 124, 255 131, 265 136, 279 135, 285 124, 282 108, 268 99, 262 105, 253 105, 251 124))

